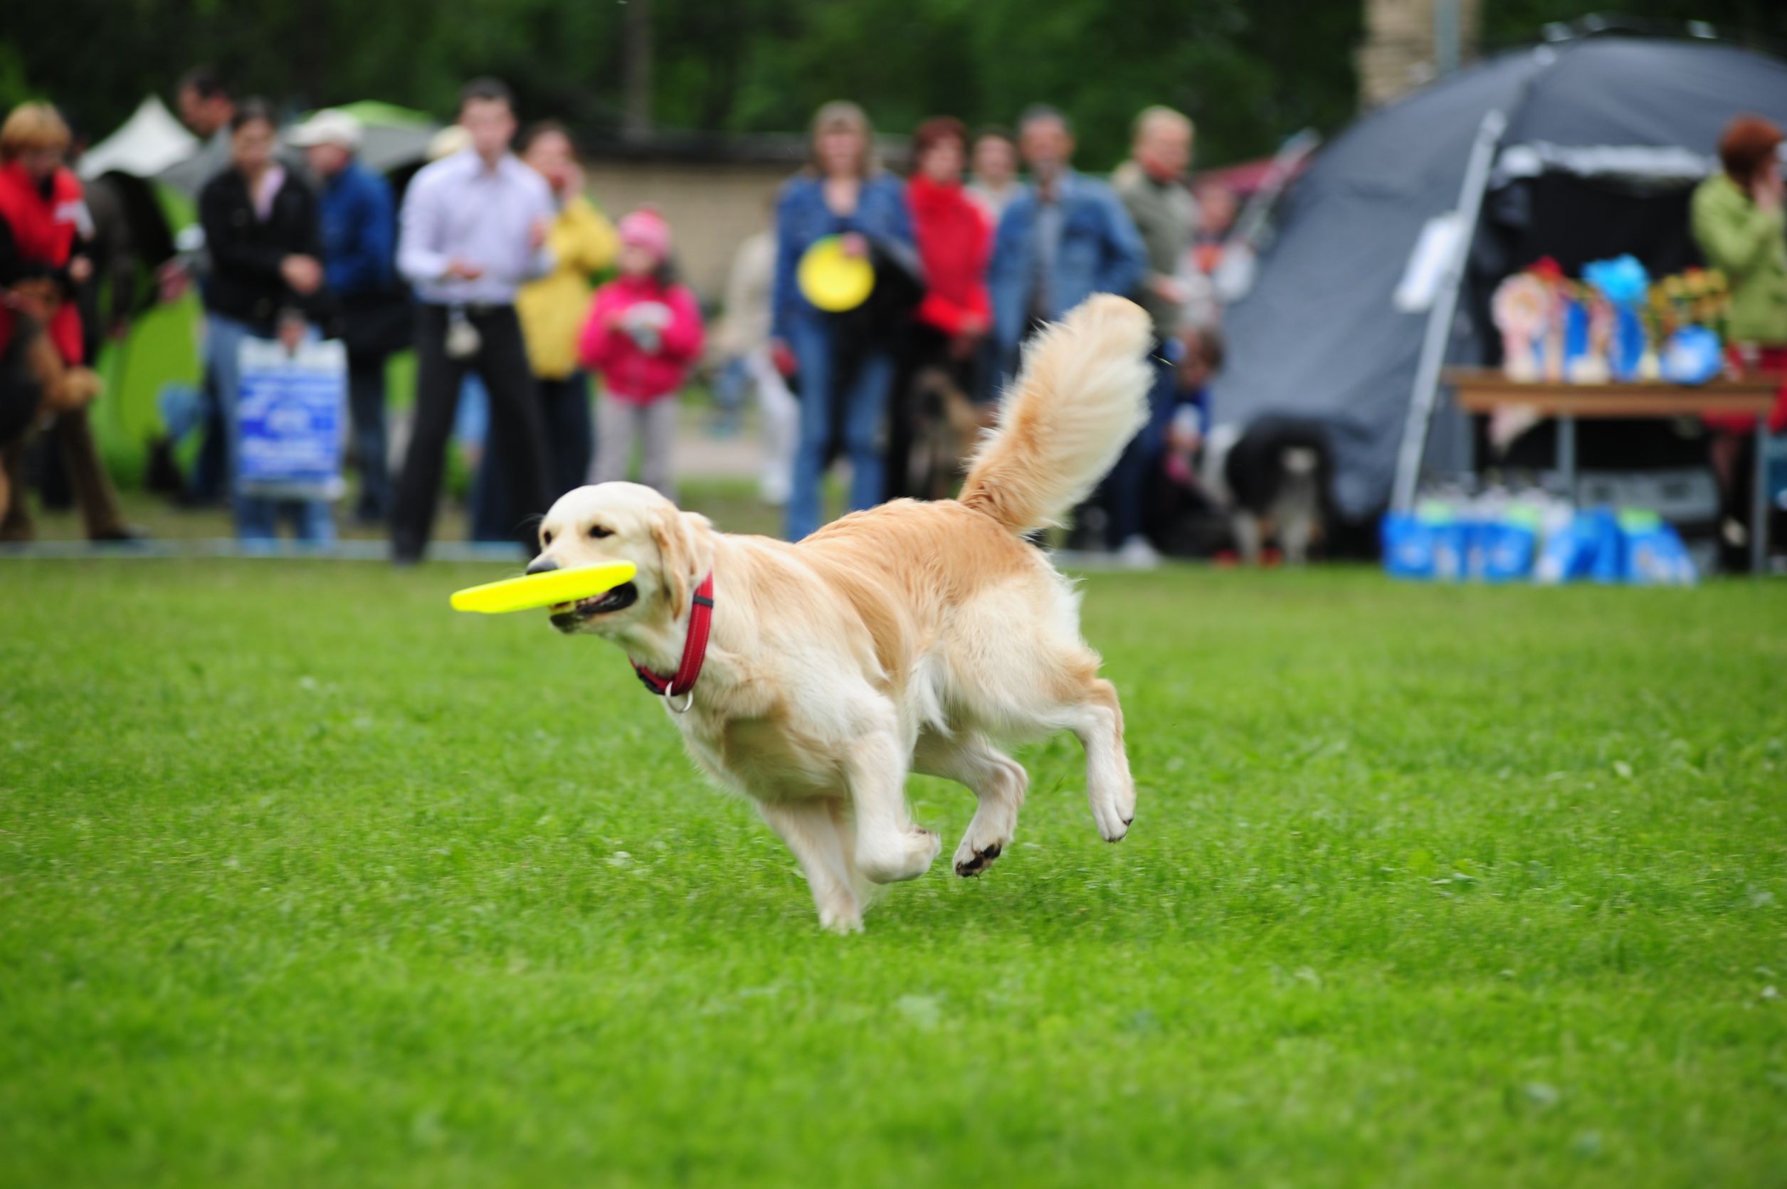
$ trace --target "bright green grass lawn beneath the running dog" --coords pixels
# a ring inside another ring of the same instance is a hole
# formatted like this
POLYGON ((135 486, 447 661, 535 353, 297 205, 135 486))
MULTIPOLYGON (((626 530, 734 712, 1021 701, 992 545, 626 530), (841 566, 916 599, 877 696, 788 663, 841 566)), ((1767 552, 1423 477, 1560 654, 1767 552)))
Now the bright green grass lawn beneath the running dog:
POLYGON ((840 939, 493 569, 0 560, 0 1184, 1787 1184, 1787 585, 1094 576, 840 939))

